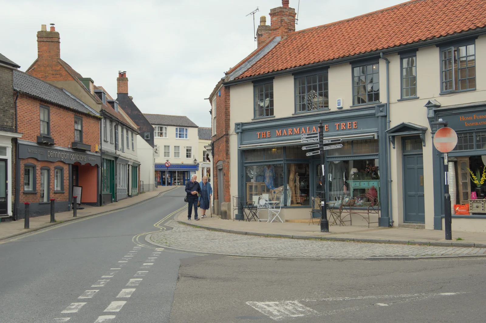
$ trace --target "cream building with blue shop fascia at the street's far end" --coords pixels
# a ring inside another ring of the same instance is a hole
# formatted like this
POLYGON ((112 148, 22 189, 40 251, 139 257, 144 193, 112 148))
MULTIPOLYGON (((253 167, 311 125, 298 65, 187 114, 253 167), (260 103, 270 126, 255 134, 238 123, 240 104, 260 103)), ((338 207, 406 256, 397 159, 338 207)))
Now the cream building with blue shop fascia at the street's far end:
POLYGON ((200 172, 197 125, 182 115, 143 115, 154 127, 157 185, 186 185, 192 174, 200 172))

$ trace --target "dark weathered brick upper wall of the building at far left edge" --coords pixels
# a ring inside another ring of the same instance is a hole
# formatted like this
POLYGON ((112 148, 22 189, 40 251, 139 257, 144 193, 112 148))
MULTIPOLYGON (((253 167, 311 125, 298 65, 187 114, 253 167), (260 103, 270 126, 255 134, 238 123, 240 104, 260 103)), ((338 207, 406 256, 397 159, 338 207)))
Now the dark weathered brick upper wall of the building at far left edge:
POLYGON ((0 66, 0 130, 15 131, 15 92, 12 69, 0 66))

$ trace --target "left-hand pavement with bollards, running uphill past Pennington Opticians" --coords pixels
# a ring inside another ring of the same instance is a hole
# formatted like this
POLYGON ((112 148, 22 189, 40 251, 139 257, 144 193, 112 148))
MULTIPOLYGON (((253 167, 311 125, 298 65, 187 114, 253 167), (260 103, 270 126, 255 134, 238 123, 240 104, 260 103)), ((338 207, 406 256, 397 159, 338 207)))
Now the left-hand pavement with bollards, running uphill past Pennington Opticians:
POLYGON ((134 197, 125 198, 121 201, 110 203, 101 207, 83 205, 84 210, 77 210, 77 217, 72 216, 72 210, 66 212, 57 212, 55 214, 56 222, 51 223, 51 215, 42 215, 31 217, 29 219, 29 229, 24 229, 24 219, 11 222, 0 222, 0 240, 16 237, 28 232, 43 229, 49 226, 56 226, 64 222, 84 218, 87 216, 99 215, 106 212, 121 210, 129 206, 154 198, 159 194, 175 189, 174 186, 159 186, 154 191, 145 192, 134 197))

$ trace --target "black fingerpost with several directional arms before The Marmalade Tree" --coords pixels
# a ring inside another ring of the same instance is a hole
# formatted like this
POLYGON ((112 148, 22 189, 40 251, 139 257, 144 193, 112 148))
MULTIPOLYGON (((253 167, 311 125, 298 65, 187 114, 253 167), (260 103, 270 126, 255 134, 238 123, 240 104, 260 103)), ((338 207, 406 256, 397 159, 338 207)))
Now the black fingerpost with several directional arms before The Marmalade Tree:
POLYGON ((326 209, 326 186, 324 185, 326 179, 326 167, 324 164, 324 150, 341 148, 343 146, 342 144, 325 146, 325 144, 340 143, 341 140, 342 140, 341 138, 324 140, 324 127, 322 126, 322 121, 319 122, 319 132, 303 133, 300 135, 300 142, 302 144, 318 143, 317 145, 302 146, 302 150, 319 148, 319 150, 314 150, 306 153, 306 156, 312 156, 317 154, 321 156, 321 167, 322 167, 321 232, 329 232, 329 220, 328 220, 328 214, 326 209))

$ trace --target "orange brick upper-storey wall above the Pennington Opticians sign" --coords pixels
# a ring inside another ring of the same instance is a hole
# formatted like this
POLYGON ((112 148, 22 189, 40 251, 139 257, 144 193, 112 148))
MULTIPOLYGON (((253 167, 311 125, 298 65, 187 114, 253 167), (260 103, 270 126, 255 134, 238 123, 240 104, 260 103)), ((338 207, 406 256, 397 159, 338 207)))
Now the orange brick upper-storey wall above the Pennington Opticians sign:
POLYGON ((21 94, 17 100, 17 127, 18 132, 23 133, 23 140, 37 141, 37 136, 40 134, 40 104, 50 107, 51 137, 55 145, 63 147, 71 145, 74 141, 74 115, 78 115, 83 118, 83 143, 91 145, 91 151, 95 151, 100 141, 98 118, 21 94))

